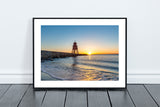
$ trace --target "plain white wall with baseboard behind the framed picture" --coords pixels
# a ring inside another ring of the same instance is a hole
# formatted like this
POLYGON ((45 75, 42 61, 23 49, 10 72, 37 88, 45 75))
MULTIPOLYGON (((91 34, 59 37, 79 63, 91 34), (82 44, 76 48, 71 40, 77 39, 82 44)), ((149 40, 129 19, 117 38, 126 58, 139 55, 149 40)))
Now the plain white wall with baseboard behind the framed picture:
POLYGON ((160 83, 160 0, 1 0, 0 83, 32 83, 33 17, 127 17, 128 83, 160 83))

